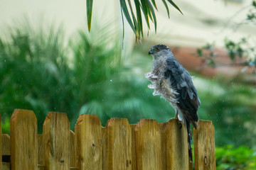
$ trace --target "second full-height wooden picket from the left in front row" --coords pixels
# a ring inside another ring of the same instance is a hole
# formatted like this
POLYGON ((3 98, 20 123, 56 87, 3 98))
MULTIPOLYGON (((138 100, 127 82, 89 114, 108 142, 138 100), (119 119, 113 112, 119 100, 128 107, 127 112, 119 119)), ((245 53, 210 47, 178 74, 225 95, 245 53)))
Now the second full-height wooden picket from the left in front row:
POLYGON ((70 123, 65 113, 50 112, 43 123, 45 169, 70 169, 70 123))

